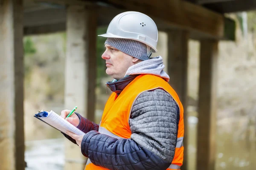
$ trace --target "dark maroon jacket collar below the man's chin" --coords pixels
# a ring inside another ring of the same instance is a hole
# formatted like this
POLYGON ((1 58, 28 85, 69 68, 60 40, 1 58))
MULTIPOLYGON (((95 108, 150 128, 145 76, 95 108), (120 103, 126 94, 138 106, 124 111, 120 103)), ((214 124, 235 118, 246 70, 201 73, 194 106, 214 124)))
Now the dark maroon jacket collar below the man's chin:
POLYGON ((110 88, 111 91, 115 92, 117 95, 119 95, 122 90, 137 77, 138 75, 129 75, 122 79, 116 80, 114 79, 112 82, 107 82, 106 85, 108 88, 110 88))

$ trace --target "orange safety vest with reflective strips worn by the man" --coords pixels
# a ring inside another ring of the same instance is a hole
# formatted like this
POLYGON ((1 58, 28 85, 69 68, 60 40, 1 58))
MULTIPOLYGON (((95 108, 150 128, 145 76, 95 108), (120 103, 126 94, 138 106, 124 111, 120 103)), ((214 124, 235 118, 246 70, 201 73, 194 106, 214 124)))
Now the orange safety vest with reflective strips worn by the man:
MULTIPOLYGON (((134 105, 134 101, 144 91, 150 91, 157 88, 162 88, 163 90, 168 92, 180 108, 180 121, 178 126, 175 156, 172 160, 172 164, 167 169, 179 170, 180 166, 183 164, 184 150, 183 106, 173 88, 161 77, 150 74, 139 75, 125 87, 125 89, 122 91, 121 94, 119 94, 118 97, 116 93, 112 93, 105 105, 102 120, 99 125, 99 133, 107 134, 118 139, 130 138, 131 130, 129 125, 129 119, 131 114, 131 108, 134 105)), ((96 166, 90 161, 90 159, 88 159, 85 170, 108 169, 96 166)))

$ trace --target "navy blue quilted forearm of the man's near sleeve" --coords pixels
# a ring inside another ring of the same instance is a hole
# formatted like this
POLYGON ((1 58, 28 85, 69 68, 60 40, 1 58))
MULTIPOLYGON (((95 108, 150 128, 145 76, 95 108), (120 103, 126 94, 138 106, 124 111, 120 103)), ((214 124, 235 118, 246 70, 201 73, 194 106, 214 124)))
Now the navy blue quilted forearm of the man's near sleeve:
POLYGON ((81 152, 93 164, 110 170, 166 170, 171 164, 132 139, 116 139, 94 130, 84 135, 81 152))

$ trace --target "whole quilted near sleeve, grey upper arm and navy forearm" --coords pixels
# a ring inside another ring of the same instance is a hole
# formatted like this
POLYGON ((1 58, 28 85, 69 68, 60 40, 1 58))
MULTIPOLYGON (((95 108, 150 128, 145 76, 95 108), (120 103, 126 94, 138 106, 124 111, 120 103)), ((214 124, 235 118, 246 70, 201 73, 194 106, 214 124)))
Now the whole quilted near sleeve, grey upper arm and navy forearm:
POLYGON ((134 102, 130 139, 116 139, 90 131, 81 152, 90 161, 110 170, 166 170, 177 142, 177 104, 165 91, 143 92, 134 102))

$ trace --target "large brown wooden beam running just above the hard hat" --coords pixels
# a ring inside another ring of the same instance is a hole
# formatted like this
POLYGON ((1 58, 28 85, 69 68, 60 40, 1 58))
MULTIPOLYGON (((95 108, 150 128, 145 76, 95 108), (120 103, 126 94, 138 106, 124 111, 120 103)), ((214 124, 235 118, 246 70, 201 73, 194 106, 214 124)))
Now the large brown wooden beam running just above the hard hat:
MULTIPOLYGON (((44 3, 59 3, 62 5, 72 4, 98 4, 104 6, 115 6, 121 10, 140 11, 148 14, 157 23, 159 30, 185 29, 190 31, 192 38, 225 39, 226 20, 223 15, 208 10, 202 6, 195 5, 181 0, 153 1, 153 0, 36 0, 44 3), (172 17, 170 17, 172 16, 172 17)), ((114 9, 113 9, 114 10, 114 9)), ((99 10, 100 11, 100 10, 99 10)), ((108 9, 112 13, 112 9, 108 9)), ((105 17, 108 16, 105 13, 105 17)), ((112 18, 111 18, 112 19, 112 18)), ((103 21, 103 20, 102 20, 103 21)), ((234 23, 234 21, 233 21, 234 23)), ((235 34, 232 32, 231 34, 235 34)), ((234 37, 231 36, 231 37, 234 37)))

